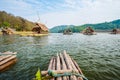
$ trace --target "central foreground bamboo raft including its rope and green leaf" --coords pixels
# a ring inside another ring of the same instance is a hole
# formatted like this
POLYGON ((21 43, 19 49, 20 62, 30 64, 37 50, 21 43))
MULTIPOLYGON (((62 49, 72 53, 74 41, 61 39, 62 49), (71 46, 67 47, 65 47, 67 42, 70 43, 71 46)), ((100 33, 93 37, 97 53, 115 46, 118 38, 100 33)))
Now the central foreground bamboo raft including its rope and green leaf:
POLYGON ((82 70, 79 68, 77 62, 67 54, 57 54, 52 57, 47 71, 38 71, 36 78, 33 80, 88 80, 82 70))

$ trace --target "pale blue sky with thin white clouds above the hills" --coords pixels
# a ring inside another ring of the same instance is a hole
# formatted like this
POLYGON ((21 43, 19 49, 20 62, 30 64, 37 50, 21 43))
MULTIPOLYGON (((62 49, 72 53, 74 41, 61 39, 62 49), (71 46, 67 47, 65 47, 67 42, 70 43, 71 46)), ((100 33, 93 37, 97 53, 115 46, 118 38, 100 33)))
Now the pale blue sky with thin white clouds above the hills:
POLYGON ((120 0, 0 0, 0 11, 52 28, 120 19, 120 0))

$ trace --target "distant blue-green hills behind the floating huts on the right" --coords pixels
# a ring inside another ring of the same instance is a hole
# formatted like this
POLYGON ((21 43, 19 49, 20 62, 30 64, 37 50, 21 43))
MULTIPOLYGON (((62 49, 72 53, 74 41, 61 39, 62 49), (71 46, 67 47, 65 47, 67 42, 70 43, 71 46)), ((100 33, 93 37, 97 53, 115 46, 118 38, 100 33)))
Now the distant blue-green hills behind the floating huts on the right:
POLYGON ((83 29, 86 27, 90 26, 96 31, 109 31, 114 28, 120 28, 120 19, 114 20, 111 22, 104 22, 104 23, 98 23, 98 24, 84 24, 84 25, 79 25, 79 26, 69 26, 69 25, 61 25, 61 26, 55 26, 50 29, 50 32, 52 33, 61 33, 65 29, 71 29, 73 32, 81 32, 83 29))

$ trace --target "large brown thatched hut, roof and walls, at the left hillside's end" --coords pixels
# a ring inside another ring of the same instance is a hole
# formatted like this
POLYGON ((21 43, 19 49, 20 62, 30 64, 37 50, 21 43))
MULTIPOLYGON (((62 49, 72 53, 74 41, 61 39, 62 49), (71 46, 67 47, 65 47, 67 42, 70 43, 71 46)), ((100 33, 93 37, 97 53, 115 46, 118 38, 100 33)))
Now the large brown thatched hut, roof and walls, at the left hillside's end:
POLYGON ((36 32, 37 34, 47 34, 48 28, 42 24, 42 23, 36 23, 36 26, 32 29, 33 32, 36 32))

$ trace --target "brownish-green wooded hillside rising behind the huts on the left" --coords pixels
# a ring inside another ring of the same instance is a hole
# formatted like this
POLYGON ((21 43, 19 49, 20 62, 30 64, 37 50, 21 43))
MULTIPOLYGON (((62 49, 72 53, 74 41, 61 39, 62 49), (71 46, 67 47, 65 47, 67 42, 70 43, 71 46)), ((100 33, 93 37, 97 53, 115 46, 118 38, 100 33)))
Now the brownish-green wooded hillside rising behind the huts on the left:
POLYGON ((5 27, 14 28, 17 31, 29 31, 34 27, 34 23, 22 17, 0 11, 0 28, 5 27))

